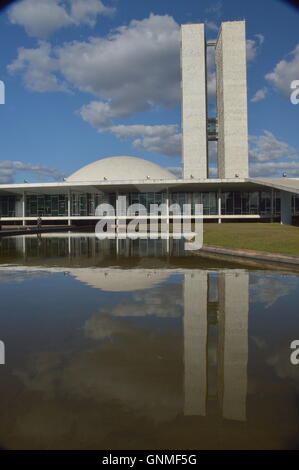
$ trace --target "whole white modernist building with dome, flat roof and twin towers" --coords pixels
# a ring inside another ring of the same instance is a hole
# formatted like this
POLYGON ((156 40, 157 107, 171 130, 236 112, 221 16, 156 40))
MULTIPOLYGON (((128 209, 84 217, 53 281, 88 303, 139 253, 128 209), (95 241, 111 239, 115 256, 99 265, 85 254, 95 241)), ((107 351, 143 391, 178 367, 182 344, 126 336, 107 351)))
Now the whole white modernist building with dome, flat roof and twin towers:
MULTIPOLYGON (((245 22, 224 22, 206 41, 204 24, 183 25, 181 44, 183 174, 135 157, 104 158, 63 182, 0 185, 2 223, 76 224, 99 217, 100 203, 203 204, 204 221, 281 221, 299 215, 299 179, 250 178, 245 22), (207 48, 215 48, 217 117, 208 116, 207 48), (218 177, 209 178, 209 141, 217 141, 218 177)), ((168 213, 171 218, 171 212, 168 213)))

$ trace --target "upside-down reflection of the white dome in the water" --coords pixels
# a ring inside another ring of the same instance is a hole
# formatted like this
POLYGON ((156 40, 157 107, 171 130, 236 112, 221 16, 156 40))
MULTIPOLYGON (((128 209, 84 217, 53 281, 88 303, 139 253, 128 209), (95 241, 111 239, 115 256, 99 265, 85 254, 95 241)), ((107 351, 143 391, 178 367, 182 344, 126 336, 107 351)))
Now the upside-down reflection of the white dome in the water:
POLYGON ((149 269, 71 269, 78 281, 109 292, 151 289, 169 277, 169 272, 149 269))

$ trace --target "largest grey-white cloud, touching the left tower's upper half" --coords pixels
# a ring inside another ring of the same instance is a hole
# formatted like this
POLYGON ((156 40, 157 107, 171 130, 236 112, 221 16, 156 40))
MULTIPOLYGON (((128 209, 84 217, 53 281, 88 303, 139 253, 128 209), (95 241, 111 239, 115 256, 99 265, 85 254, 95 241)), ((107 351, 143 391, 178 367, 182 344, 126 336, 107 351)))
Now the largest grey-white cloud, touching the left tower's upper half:
POLYGON ((179 25, 170 16, 151 15, 107 38, 65 44, 58 56, 68 81, 109 102, 114 116, 123 116, 179 102, 179 51, 179 25))

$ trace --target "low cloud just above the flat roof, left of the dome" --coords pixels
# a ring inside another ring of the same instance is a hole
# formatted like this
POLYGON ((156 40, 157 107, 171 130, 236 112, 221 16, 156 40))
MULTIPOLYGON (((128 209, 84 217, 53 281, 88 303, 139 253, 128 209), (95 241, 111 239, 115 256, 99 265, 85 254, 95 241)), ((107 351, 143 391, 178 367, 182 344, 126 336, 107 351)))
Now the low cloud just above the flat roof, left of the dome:
POLYGON ((31 165, 30 163, 23 163, 14 160, 6 160, 0 162, 0 183, 13 183, 18 172, 28 173, 38 180, 43 180, 44 178, 58 180, 63 177, 63 174, 55 168, 49 168, 43 165, 31 165))

